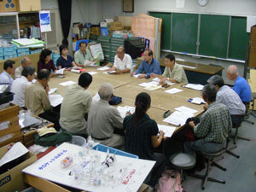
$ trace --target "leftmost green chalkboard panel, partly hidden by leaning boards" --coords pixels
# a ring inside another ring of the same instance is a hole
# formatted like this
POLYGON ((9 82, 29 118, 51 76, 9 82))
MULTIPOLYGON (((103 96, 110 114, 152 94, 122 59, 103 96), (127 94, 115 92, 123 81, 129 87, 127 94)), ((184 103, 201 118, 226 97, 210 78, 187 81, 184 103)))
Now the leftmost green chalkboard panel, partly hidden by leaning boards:
POLYGON ((149 15, 156 18, 161 18, 162 32, 161 32, 161 49, 171 49, 171 13, 149 12, 149 15))

